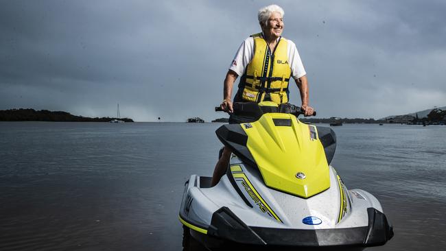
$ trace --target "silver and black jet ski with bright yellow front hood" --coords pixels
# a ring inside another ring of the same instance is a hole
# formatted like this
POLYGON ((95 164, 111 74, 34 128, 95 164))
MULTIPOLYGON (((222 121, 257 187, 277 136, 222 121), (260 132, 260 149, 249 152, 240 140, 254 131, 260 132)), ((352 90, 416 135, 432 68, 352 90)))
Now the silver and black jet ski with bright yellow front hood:
POLYGON ((331 128, 302 123, 303 112, 291 104, 235 103, 233 109, 257 120, 216 130, 233 152, 218 184, 196 174, 185 183, 184 250, 362 250, 393 237, 377 198, 347 189, 330 165, 331 128))

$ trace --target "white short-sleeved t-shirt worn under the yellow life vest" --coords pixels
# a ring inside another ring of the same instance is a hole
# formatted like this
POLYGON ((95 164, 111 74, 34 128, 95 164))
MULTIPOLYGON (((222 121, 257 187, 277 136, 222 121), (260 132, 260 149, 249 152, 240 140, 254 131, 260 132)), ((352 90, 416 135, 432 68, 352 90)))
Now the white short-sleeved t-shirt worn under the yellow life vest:
MULTIPOLYGON (((279 38, 278 38, 279 39, 279 38)), ((286 39, 286 38, 280 38, 286 39)), ((287 39, 286 39, 287 40, 287 39)), ((303 68, 301 56, 297 51, 296 45, 292 42, 292 40, 287 40, 287 55, 291 68, 291 76, 294 80, 297 80, 299 77, 307 74, 305 69, 303 68)), ((254 38, 249 37, 246 38, 242 45, 240 45, 237 53, 235 53, 235 57, 233 62, 231 62, 230 70, 235 71, 237 75, 241 76, 245 72, 246 66, 248 66, 249 62, 254 57, 254 38)))

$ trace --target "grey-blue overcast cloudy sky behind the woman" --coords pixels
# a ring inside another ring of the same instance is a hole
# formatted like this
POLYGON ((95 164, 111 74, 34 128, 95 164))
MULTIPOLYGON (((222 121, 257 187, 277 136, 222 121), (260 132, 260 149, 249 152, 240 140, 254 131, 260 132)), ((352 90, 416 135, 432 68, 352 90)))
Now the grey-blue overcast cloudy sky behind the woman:
POLYGON ((270 3, 285 10, 318 117, 446 106, 444 0, 0 0, 0 110, 111 117, 119 103, 136 121, 223 117, 213 107, 228 65, 270 3))

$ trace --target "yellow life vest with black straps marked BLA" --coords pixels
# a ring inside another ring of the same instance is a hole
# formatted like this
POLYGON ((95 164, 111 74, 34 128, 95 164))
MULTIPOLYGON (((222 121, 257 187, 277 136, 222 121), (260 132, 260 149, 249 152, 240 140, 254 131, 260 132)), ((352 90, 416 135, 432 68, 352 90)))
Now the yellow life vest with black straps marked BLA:
POLYGON ((287 103, 291 75, 287 40, 279 38, 276 49, 270 52, 261 33, 251 36, 254 38, 254 57, 240 78, 239 95, 244 101, 287 103))

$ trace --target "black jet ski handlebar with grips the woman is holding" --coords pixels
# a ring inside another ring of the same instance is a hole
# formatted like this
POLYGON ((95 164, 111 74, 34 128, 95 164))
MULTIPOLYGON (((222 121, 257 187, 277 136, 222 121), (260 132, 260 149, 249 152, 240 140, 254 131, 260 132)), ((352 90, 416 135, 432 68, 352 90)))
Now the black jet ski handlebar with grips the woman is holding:
MULTIPOLYGON (((233 104, 233 110, 236 115, 248 115, 261 117, 263 113, 267 112, 281 112, 289 113, 296 117, 305 114, 300 106, 294 106, 294 104, 280 104, 279 107, 274 106, 259 106, 256 102, 235 102, 233 104)), ((215 112, 226 112, 220 106, 215 106, 215 112)), ((316 111, 312 116, 316 116, 316 111)))

